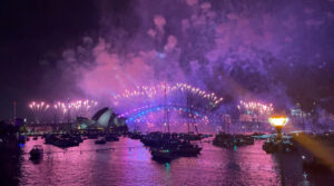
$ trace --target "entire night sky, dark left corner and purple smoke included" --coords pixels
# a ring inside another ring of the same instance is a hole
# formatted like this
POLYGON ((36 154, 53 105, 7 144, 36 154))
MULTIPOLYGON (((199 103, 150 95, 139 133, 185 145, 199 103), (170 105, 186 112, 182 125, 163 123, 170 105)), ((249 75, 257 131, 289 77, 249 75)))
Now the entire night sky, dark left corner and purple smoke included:
POLYGON ((334 112, 333 36, 333 0, 1 1, 0 118, 161 81, 334 112))

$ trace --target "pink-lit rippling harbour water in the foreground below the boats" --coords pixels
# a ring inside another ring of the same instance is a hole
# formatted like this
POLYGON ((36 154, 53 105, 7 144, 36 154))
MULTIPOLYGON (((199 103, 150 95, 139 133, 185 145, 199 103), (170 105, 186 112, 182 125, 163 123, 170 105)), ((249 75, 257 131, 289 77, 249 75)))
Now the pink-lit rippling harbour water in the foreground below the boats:
MULTIPOLYGON (((43 139, 30 140, 28 153, 43 139)), ((43 145, 45 156, 36 163, 22 157, 20 185, 334 185, 331 176, 303 173, 299 155, 267 155, 263 141, 237 149, 203 143, 198 157, 178 158, 170 164, 151 160, 139 140, 96 145, 85 140, 79 147, 61 149, 43 145), (111 150, 110 148, 115 148, 111 150), (97 150, 100 149, 100 150, 97 150), (49 153, 49 154, 48 154, 49 153)))

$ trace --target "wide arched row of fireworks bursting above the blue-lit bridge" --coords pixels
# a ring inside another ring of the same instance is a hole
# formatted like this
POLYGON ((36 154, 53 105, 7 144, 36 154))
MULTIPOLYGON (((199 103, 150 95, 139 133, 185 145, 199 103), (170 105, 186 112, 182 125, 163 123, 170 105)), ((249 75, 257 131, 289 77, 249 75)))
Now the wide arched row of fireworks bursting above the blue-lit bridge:
POLYGON ((197 87, 187 84, 158 84, 156 86, 136 87, 135 90, 125 90, 124 94, 112 97, 112 104, 116 108, 127 106, 143 105, 170 105, 184 104, 187 106, 199 106, 206 109, 216 108, 222 104, 223 98, 214 92, 207 92, 197 87), (165 101, 165 102, 161 102, 165 101), (122 102, 121 106, 119 104, 122 102))

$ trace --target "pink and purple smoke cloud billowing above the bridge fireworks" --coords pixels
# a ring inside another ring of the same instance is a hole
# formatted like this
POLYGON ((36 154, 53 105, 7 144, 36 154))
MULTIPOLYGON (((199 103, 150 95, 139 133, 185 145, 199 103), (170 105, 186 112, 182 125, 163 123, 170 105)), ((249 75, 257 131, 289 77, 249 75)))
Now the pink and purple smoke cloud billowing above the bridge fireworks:
POLYGON ((60 81, 86 97, 108 102, 167 81, 286 107, 323 94, 301 91, 333 71, 332 1, 140 0, 120 16, 102 2, 99 37, 63 51, 57 66, 60 81))

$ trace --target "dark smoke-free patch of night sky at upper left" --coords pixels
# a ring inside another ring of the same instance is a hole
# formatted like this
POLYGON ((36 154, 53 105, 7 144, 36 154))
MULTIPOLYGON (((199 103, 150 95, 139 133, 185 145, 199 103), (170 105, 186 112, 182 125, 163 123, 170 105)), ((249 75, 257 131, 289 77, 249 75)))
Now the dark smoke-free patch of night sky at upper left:
MULTIPOLYGON (((0 6, 1 110, 0 118, 12 116, 12 102, 23 111, 31 99, 43 98, 46 72, 53 69, 65 48, 75 46, 82 36, 95 35, 98 10, 92 1, 1 1, 0 6), (53 58, 49 68, 45 58, 53 58)), ((55 85, 49 85, 55 86, 55 85)))

